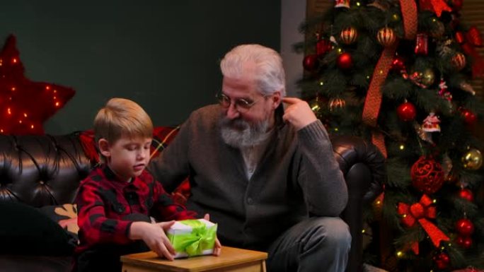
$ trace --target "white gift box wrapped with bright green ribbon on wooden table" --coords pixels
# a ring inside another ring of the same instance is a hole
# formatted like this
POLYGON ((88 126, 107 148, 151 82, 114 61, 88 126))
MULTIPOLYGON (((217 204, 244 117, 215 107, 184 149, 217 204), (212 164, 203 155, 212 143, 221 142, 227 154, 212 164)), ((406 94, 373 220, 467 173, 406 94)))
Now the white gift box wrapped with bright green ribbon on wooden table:
POLYGON ((214 252, 217 224, 204 219, 181 220, 166 231, 166 236, 175 248, 175 259, 209 255, 214 252))

